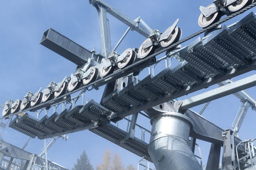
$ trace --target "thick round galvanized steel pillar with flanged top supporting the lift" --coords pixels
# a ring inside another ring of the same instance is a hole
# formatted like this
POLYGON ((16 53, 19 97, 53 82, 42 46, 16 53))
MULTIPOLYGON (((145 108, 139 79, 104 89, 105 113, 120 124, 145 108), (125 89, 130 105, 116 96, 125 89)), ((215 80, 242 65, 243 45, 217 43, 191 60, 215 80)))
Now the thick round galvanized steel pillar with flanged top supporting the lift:
POLYGON ((180 113, 164 113, 151 118, 149 155, 157 170, 200 170, 188 137, 192 120, 180 113))

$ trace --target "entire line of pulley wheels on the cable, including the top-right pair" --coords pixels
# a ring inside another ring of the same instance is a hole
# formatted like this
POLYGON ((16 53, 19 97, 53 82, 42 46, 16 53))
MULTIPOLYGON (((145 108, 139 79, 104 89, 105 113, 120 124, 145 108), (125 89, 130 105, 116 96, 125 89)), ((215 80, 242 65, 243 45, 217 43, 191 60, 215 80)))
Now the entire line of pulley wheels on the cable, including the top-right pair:
MULTIPOLYGON (((250 4, 252 4, 252 0, 215 0, 210 6, 200 7, 201 16, 198 19, 198 25, 202 28, 206 28, 217 22, 224 14, 230 15, 250 4)), ((121 55, 118 55, 117 52, 112 52, 107 58, 99 57, 101 62, 97 65, 95 65, 95 63, 92 64, 91 59, 89 59, 86 64, 80 65, 78 69, 76 69, 75 74, 71 74, 68 78, 65 77, 63 81, 60 81, 58 84, 53 81, 50 82, 49 86, 42 92, 41 89, 35 94, 30 91, 24 96, 22 101, 19 99, 16 101, 6 101, 2 115, 5 117, 40 103, 45 103, 50 99, 60 98, 65 93, 72 92, 81 86, 91 84, 97 79, 102 79, 112 74, 114 70, 123 69, 138 60, 154 54, 155 51, 175 44, 181 39, 182 33, 181 28, 178 28, 177 24, 178 20, 176 20, 173 26, 167 28, 164 33, 159 33, 159 30, 152 30, 149 37, 142 42, 139 50, 129 48, 124 50, 121 55)), ((174 50, 176 47, 172 47, 172 49, 174 50)), ((171 49, 169 49, 168 52, 171 52, 171 49)), ((144 64, 143 67, 138 69, 142 70, 148 65, 149 64, 144 64)))

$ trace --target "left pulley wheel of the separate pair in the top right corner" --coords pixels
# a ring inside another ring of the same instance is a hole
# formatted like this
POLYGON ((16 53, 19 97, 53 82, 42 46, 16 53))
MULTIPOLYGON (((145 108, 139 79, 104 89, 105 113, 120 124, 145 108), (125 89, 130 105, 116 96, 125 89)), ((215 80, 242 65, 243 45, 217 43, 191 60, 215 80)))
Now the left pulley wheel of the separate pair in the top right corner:
MULTIPOLYGON (((209 6, 207 6, 207 8, 211 8, 212 6, 214 6, 214 4, 210 4, 209 6)), ((216 21, 218 21, 220 17, 221 17, 220 11, 213 13, 208 17, 204 16, 203 13, 201 13, 201 15, 198 18, 198 25, 201 28, 206 28, 210 26, 212 23, 215 23, 216 21)))

